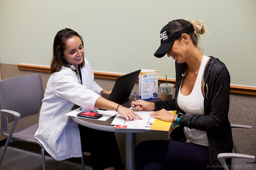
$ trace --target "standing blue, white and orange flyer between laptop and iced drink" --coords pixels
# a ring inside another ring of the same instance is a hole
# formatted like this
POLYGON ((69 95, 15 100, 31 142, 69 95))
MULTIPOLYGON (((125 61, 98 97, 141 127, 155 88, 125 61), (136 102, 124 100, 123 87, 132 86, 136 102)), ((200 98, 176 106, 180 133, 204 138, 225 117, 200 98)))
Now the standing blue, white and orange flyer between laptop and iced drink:
POLYGON ((158 71, 141 69, 139 75, 139 98, 143 100, 158 97, 158 71))

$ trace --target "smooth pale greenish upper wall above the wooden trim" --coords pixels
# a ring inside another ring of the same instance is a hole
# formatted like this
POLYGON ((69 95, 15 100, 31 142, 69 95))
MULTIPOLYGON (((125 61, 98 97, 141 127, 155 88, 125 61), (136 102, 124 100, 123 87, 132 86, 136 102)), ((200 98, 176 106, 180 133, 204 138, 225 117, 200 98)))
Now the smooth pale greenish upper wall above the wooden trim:
POLYGON ((158 70, 159 77, 175 78, 174 60, 153 54, 160 45, 161 28, 189 17, 206 25, 209 35, 203 34, 199 45, 205 55, 226 64, 231 84, 256 86, 255 0, 73 0, 72 4, 76 12, 70 0, 0 0, 1 63, 49 66, 54 35, 68 27, 83 36, 93 71, 148 68, 158 70))

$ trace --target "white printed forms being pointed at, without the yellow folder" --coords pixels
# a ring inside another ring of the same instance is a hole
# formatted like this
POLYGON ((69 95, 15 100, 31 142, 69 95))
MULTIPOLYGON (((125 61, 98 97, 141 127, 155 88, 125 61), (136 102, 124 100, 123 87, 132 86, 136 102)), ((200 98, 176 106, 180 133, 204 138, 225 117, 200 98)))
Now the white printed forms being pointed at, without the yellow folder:
POLYGON ((136 117, 134 120, 129 121, 126 121, 124 117, 122 117, 120 114, 117 114, 111 125, 127 126, 127 129, 150 129, 151 125, 155 121, 155 118, 151 118, 149 114, 153 112, 154 111, 137 111, 136 113, 139 114, 143 119, 136 117))

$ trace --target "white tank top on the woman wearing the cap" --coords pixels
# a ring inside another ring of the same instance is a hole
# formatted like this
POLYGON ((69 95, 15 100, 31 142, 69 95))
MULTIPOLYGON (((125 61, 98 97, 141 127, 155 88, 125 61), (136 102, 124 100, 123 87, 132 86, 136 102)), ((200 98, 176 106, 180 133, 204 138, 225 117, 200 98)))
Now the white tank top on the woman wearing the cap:
MULTIPOLYGON (((177 104, 179 108, 181 108, 186 113, 186 115, 204 115, 204 96, 202 94, 201 84, 204 67, 206 66, 208 59, 209 57, 203 55, 192 92, 188 96, 184 96, 181 94, 179 88, 177 104)), ((192 142, 198 145, 209 145, 206 131, 184 127, 184 134, 186 136, 187 143, 192 142)))

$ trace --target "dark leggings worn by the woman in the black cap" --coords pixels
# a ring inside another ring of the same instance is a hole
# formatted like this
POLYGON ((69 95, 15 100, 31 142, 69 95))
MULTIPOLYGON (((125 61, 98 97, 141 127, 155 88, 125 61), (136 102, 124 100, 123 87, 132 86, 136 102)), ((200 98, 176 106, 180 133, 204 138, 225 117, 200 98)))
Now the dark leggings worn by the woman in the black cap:
POLYGON ((173 140, 142 141, 135 148, 137 170, 207 169, 207 146, 173 140))

